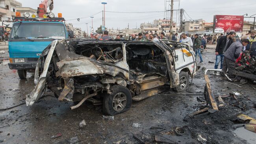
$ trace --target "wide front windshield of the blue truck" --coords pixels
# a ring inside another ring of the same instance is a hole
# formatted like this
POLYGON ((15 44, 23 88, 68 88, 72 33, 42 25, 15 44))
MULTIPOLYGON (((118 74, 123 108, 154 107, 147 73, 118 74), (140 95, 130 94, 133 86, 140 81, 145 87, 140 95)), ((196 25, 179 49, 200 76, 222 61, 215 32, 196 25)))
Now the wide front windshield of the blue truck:
POLYGON ((65 39, 65 27, 61 23, 14 23, 11 39, 65 39))

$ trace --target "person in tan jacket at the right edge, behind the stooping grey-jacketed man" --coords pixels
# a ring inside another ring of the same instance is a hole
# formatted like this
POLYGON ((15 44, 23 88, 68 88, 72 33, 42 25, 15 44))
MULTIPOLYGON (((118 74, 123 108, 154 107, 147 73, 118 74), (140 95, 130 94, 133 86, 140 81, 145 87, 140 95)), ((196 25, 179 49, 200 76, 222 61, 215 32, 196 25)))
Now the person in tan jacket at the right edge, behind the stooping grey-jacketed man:
POLYGON ((249 50, 250 57, 254 58, 254 59, 256 57, 256 38, 255 38, 255 36, 256 36, 256 31, 252 30, 250 32, 250 36, 247 38, 250 41, 250 43, 249 43, 249 45, 247 45, 245 47, 245 50, 249 50))

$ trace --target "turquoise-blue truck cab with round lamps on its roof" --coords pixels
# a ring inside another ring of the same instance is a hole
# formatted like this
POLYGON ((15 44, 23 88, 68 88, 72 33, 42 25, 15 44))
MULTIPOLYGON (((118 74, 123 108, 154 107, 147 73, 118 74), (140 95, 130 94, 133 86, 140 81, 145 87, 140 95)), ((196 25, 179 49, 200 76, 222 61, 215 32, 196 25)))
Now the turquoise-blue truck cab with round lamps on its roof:
POLYGON ((27 72, 35 70, 43 49, 53 40, 67 39, 64 18, 15 17, 9 37, 10 69, 18 72, 20 79, 26 79, 27 72))

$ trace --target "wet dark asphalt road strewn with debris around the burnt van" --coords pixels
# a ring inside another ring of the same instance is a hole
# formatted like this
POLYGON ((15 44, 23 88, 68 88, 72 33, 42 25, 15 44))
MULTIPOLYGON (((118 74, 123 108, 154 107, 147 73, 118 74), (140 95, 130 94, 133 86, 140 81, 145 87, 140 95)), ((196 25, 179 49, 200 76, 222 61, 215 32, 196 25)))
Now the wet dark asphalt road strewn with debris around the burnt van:
MULTIPOLYGON (((198 93, 197 95, 170 95, 174 92, 168 90, 143 101, 134 101, 130 110, 115 115, 114 120, 103 119, 104 113, 102 113, 101 106, 94 106, 91 103, 85 103, 77 109, 70 110, 73 103, 61 103, 51 92, 46 92, 45 98, 40 99, 33 106, 27 107, 24 100, 26 94, 30 94, 34 88, 33 73, 28 74, 26 80, 20 80, 16 70, 9 69, 7 65, 8 52, 5 51, 6 54, 0 55, 2 61, 0 64, 1 144, 66 144, 70 143, 68 141, 71 138, 73 138, 74 143, 79 142, 81 144, 139 143, 133 135, 137 135, 142 140, 148 140, 148 143, 156 143, 154 133, 158 131, 158 128, 154 127, 160 127, 161 131, 162 129, 168 130, 173 127, 186 126, 189 123, 184 121, 184 117, 200 109, 197 97, 203 97, 205 85, 201 69, 198 70, 193 79, 193 85, 188 89, 189 92, 198 93), (21 105, 17 106, 19 104, 21 105), (17 107, 2 110, 12 106, 17 107), (86 126, 80 128, 79 123, 83 119, 86 126), (138 123, 139 127, 133 127, 134 123, 138 123), (58 133, 61 133, 62 136, 51 139, 58 133)), ((213 68, 214 63, 208 63, 208 61, 215 62, 214 50, 208 49, 202 55, 204 63, 200 64, 201 68, 213 68)), ((199 58, 197 60, 199 62, 199 58)), ((256 92, 249 85, 242 85, 242 88, 239 88, 225 83, 220 76, 209 77, 215 95, 228 94, 230 91, 221 90, 229 87, 234 91, 240 90, 243 93, 241 97, 247 97, 253 102, 256 101, 256 92)), ((236 83, 239 84, 239 82, 236 83)), ((256 85, 252 86, 256 87, 256 85)), ((240 112, 240 110, 238 111, 240 112)), ((241 111, 241 113, 256 118, 255 108, 241 111)), ((226 133, 216 136, 216 143, 221 144, 226 139, 234 144, 247 143, 239 138, 233 130, 221 130, 221 128, 213 128, 212 130, 226 133)), ((206 139, 209 142, 214 137, 207 137, 206 139)), ((254 138, 249 139, 256 143, 254 138)), ((201 143, 195 137, 189 140, 189 143, 192 142, 201 143)))

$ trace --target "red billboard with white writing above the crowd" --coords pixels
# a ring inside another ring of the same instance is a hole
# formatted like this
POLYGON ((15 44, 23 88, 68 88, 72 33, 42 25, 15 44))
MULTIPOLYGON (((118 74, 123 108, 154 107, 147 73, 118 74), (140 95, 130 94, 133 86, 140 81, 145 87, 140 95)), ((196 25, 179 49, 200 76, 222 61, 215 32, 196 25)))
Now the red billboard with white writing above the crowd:
POLYGON ((215 33, 243 32, 243 16, 215 15, 213 23, 215 33))

